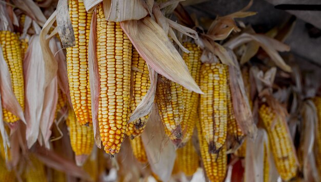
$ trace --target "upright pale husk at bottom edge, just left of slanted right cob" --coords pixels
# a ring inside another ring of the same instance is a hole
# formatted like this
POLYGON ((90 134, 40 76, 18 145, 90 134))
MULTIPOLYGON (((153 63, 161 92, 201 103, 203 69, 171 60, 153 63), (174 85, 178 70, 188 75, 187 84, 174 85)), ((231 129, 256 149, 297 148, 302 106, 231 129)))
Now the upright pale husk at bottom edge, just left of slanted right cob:
POLYGON ((257 130, 255 140, 246 141, 244 181, 264 181, 264 145, 269 149, 268 134, 264 129, 257 130))

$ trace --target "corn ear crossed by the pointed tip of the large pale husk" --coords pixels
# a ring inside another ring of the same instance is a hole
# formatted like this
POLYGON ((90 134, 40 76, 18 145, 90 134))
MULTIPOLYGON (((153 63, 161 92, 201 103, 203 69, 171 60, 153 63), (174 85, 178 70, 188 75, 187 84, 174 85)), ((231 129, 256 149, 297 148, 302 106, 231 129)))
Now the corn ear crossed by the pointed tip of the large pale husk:
MULTIPOLYGON (((185 43, 184 47, 190 51, 190 53, 183 53, 183 59, 191 73, 193 79, 199 84, 199 70, 200 70, 200 55, 202 50, 198 48, 196 44, 185 43)), ((195 127, 195 115, 198 107, 199 95, 196 92, 192 92, 183 87, 183 100, 184 100, 184 115, 182 120, 183 140, 182 146, 185 145, 191 138, 195 127)))

